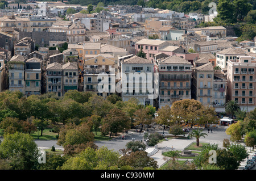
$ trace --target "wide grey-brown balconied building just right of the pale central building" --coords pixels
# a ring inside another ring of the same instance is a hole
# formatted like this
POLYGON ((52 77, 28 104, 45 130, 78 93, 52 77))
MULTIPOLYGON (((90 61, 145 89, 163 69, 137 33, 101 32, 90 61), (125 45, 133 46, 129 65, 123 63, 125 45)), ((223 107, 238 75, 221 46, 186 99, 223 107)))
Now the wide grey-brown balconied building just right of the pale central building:
POLYGON ((191 99, 192 64, 176 55, 159 61, 159 108, 191 99))

